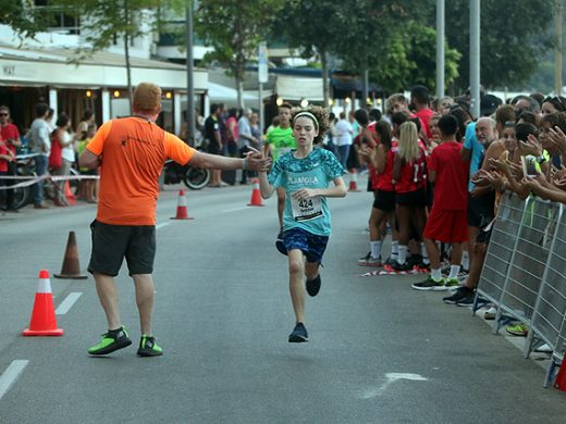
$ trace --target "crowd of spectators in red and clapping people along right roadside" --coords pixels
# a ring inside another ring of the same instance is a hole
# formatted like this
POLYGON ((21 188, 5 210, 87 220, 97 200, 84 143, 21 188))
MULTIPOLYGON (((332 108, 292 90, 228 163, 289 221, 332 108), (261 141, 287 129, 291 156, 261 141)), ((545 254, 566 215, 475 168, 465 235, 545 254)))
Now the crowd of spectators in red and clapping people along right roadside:
MULTIPOLYGON (((408 99, 390 96, 381 119, 358 110, 356 158, 347 162, 350 171, 367 166, 373 191, 369 252, 358 264, 381 274, 428 274, 413 288, 446 291, 443 301, 458 307, 475 302, 504 192, 566 202, 566 98, 532 93, 503 102, 482 92, 477 120, 469 101, 431 99, 427 87, 415 86, 408 99)), ((352 124, 345 115, 335 124, 339 154, 352 124)), ((485 317, 494 316, 488 309, 485 317)), ((528 331, 507 326, 516 336, 528 331)))

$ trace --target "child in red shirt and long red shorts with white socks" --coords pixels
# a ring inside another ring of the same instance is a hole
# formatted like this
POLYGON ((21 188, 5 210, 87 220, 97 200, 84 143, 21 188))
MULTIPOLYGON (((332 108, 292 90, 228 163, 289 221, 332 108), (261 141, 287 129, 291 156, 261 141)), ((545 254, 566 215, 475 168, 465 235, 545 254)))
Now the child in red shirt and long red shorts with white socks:
POLYGON ((462 145, 456 141, 458 121, 452 115, 439 120, 441 145, 429 158, 429 179, 434 183, 434 202, 424 228, 424 245, 430 258, 430 276, 416 283, 417 290, 445 290, 458 287, 462 246, 468 239, 469 162, 462 159, 462 145), (451 270, 444 279, 440 270, 436 241, 452 245, 451 270))

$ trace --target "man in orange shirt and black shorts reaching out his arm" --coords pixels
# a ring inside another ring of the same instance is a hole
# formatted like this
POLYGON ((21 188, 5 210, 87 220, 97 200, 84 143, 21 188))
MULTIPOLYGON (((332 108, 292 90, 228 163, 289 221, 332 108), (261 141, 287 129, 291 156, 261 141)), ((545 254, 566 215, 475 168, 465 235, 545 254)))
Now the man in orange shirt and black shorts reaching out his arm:
POLYGON ((90 224, 93 251, 88 271, 108 320, 108 333, 88 349, 107 354, 132 344, 120 317, 118 275, 126 259, 134 279, 142 339, 137 354, 157 357, 163 350, 151 332, 153 309, 153 259, 156 254, 156 207, 158 178, 168 158, 180 164, 206 169, 267 171, 271 160, 258 151, 244 159, 207 154, 187 146, 156 125, 161 112, 161 89, 142 83, 134 91, 134 115, 104 123, 85 148, 79 165, 100 166, 100 191, 96 220, 90 224))

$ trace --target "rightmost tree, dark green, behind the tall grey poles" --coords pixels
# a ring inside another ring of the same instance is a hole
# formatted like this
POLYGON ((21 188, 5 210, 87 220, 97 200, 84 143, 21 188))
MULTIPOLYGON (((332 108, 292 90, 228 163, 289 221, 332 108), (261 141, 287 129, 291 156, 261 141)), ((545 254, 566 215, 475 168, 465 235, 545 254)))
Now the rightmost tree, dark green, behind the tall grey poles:
MULTIPOLYGON (((434 0, 429 22, 433 22, 434 0)), ((555 46, 557 0, 482 0, 480 23, 481 84, 522 89, 541 58, 555 46)), ((469 0, 446 1, 446 38, 463 53, 455 88, 469 86, 469 0)))

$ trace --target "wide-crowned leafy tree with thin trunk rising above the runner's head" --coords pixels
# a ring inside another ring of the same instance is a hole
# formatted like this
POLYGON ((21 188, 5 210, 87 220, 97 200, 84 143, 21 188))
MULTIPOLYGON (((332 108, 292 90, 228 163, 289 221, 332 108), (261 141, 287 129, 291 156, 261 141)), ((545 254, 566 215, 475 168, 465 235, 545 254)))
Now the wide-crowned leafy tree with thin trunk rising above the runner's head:
MULTIPOLYGON (((333 53, 342 60, 343 71, 360 77, 369 71, 371 80, 385 89, 398 90, 411 84, 410 78, 419 70, 416 63, 421 60, 419 54, 426 53, 421 50, 431 51, 433 60, 435 58, 434 40, 429 50, 430 36, 434 36, 434 32, 420 29, 411 21, 411 16, 427 16, 422 8, 420 2, 409 0, 349 0, 347 8, 332 0, 287 0, 274 32, 282 33, 305 58, 316 54, 323 76, 327 75, 325 53, 333 53), (423 47, 410 45, 424 40, 423 47)), ((454 50, 450 53, 457 54, 454 50)), ((453 77, 457 71, 454 62, 448 64, 448 74, 453 77)), ((434 72, 433 68, 427 78, 419 74, 419 78, 433 80, 434 72)), ((324 95, 327 100, 327 86, 324 95)))

